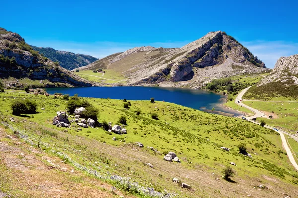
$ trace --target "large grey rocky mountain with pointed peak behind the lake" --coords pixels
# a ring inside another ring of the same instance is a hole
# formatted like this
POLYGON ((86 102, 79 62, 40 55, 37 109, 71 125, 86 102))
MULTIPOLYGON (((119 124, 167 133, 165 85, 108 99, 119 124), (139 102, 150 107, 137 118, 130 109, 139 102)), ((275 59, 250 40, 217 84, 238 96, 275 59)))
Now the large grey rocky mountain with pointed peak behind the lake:
POLYGON ((222 31, 209 32, 181 48, 135 47, 79 69, 99 68, 118 72, 132 84, 192 88, 216 78, 266 70, 261 60, 222 31))

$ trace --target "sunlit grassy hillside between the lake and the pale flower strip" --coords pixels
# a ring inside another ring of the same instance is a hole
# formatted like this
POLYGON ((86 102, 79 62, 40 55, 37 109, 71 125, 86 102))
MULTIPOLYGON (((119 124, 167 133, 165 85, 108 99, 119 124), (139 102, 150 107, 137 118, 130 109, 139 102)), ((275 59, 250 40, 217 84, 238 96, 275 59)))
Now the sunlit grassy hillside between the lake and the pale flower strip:
MULTIPOLYGON (((88 98, 100 109, 100 121, 114 124, 121 115, 126 115, 128 134, 109 135, 102 128, 78 132, 71 128, 64 132, 63 128, 50 123, 56 111, 65 109, 66 101, 52 99, 52 96, 0 94, 2 121, 9 120, 11 112, 8 104, 14 97, 34 99, 40 108, 45 107, 45 110, 39 108, 40 113, 31 117, 13 116, 17 120, 16 123, 10 122, 14 127, 22 129, 34 143, 43 131, 42 148, 45 152, 63 152, 79 164, 97 169, 100 174, 131 177, 143 186, 159 191, 166 189, 182 197, 244 197, 247 194, 276 197, 280 192, 298 196, 298 186, 292 183, 295 178, 290 175, 296 173, 287 156, 278 152, 283 150, 279 135, 252 123, 166 102, 131 101, 131 109, 124 110, 120 100, 88 98), (141 116, 134 115, 137 108, 141 109, 141 116), (159 120, 151 119, 150 112, 157 112, 159 120), (33 124, 24 124, 21 122, 23 119, 33 124), (113 141, 113 136, 124 138, 126 142, 113 141), (136 141, 142 142, 145 148, 130 144, 136 141), (240 142, 246 143, 250 153, 258 155, 253 155, 251 159, 239 154, 236 145, 240 142), (174 151, 182 163, 167 163, 162 160, 163 155, 154 153, 147 146, 153 146, 161 153, 174 151), (232 149, 224 152, 219 148, 221 146, 232 149), (237 172, 234 178, 237 183, 217 180, 221 178, 222 169, 232 161, 237 164, 233 166, 237 172), (154 168, 144 166, 144 162, 152 163, 154 168), (177 189, 177 184, 171 182, 173 177, 181 178, 195 191, 177 189), (260 184, 269 189, 256 191, 254 186, 260 184), (238 194, 230 189, 235 189, 238 194)), ((123 188, 121 185, 117 187, 123 188)))

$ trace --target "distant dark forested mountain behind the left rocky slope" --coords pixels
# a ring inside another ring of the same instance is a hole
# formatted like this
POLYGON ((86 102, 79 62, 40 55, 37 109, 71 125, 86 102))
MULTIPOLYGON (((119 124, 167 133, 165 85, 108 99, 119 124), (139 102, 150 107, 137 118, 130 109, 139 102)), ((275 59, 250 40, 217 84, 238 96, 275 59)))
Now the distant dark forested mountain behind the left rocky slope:
POLYGON ((38 51, 53 62, 59 62, 61 67, 68 70, 86 66, 97 60, 97 58, 90 55, 75 54, 68 51, 58 51, 53 48, 31 47, 33 50, 38 51))

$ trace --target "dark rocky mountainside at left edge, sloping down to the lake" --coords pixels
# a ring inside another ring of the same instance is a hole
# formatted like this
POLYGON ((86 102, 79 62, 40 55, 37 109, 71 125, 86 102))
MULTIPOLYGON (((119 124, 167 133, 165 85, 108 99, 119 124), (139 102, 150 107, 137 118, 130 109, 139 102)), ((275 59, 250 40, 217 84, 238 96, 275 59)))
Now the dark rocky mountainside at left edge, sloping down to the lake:
POLYGON ((60 86, 92 85, 34 51, 19 34, 0 28, 0 78, 10 77, 48 80, 52 86, 55 86, 53 83, 60 83, 60 86))

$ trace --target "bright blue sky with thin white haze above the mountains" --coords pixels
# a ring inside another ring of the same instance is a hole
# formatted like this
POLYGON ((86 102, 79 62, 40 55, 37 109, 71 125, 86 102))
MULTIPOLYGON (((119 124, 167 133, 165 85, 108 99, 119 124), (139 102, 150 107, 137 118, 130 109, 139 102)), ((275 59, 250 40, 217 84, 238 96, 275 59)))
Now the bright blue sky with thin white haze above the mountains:
POLYGON ((222 30, 273 68, 298 54, 297 7, 295 0, 3 0, 0 27, 31 45, 98 58, 135 46, 181 47, 222 30))

